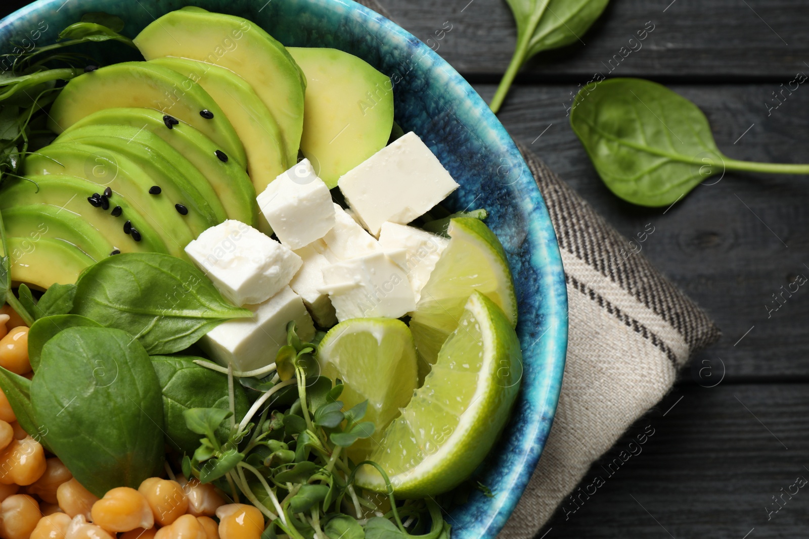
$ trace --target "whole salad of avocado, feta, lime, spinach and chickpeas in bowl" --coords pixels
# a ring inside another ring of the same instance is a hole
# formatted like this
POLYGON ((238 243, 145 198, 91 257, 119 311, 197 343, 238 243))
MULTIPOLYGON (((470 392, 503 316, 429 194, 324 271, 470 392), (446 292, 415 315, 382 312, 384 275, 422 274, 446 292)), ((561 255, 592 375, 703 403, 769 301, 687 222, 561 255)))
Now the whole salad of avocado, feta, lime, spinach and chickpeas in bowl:
POLYGON ((0 537, 437 539, 481 499, 496 533, 561 381, 523 362, 502 201, 458 208, 357 55, 198 6, 124 30, 6 55, 0 537), (503 496, 485 462, 526 420, 503 496))

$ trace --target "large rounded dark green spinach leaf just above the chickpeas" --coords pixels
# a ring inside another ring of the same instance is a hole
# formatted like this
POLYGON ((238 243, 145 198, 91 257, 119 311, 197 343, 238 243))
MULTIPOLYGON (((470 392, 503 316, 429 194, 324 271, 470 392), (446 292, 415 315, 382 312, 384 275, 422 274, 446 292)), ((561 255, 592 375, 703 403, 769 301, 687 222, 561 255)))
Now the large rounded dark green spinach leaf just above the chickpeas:
MULTIPOLYGON (((114 257, 113 257, 114 258, 114 257)), ((125 331, 71 327, 45 343, 31 384, 45 440, 96 496, 163 470, 163 400, 146 350, 125 331)))

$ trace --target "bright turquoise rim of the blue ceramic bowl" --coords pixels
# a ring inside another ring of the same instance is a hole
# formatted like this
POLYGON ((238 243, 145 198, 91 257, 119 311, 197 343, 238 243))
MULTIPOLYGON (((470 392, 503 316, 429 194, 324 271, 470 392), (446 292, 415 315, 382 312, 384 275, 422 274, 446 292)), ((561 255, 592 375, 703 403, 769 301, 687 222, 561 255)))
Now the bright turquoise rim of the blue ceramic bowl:
MULTIPOLYGON (((544 203, 544 197, 540 193, 539 187, 522 154, 497 116, 491 112, 489 106, 466 79, 432 48, 397 23, 367 6, 354 2, 354 0, 294 1, 320 5, 326 8, 328 8, 329 4, 332 4, 332 8, 334 5, 341 6, 343 10, 362 15, 366 19, 366 23, 378 24, 383 28, 384 32, 396 36, 401 44, 417 44, 420 46, 423 49, 421 59, 427 58, 430 61, 430 65, 426 69, 440 70, 443 78, 446 78, 447 86, 453 87, 455 93, 463 94, 465 99, 469 100, 479 114, 479 119, 485 122, 485 127, 491 130, 493 137, 501 145, 503 153, 508 154, 510 159, 515 160, 509 163, 510 166, 518 165, 521 167, 519 178, 515 180, 515 183, 519 182, 521 187, 532 193, 532 196, 527 197, 531 200, 524 203, 520 211, 525 217, 527 234, 532 238, 536 250, 531 254, 530 265, 542 280, 540 293, 537 294, 537 300, 540 302, 537 305, 531 305, 531 309, 534 312, 544 314, 544 326, 547 327, 541 334, 537 329, 536 333, 539 336, 527 349, 523 346, 522 339, 520 345, 523 348, 523 360, 526 352, 529 352, 532 357, 538 358, 537 361, 544 358, 544 363, 541 364, 543 373, 537 378, 538 381, 543 383, 538 387, 532 387, 531 394, 527 394, 525 384, 523 384, 515 402, 515 409, 519 402, 528 399, 532 408, 539 411, 540 415, 530 423, 530 428, 527 431, 523 431, 523 436, 521 436, 519 443, 522 453, 518 455, 518 461, 510 463, 510 472, 505 478, 507 488, 505 495, 499 495, 501 494, 500 492, 495 493, 495 497, 490 501, 490 509, 484 515, 479 515, 485 518, 475 521, 472 528, 461 528, 458 530, 460 533, 455 533, 455 529, 453 529, 452 534, 452 539, 480 539, 481 537, 493 539, 506 524, 506 520, 508 520, 511 513, 514 512, 523 491, 532 478, 533 471, 544 449, 544 444, 548 440, 561 392, 561 381, 565 368, 568 343, 568 305, 565 273, 561 263, 556 233, 550 220, 548 208, 544 203)), ((9 37, 6 33, 16 21, 28 18, 39 11, 51 11, 55 9, 55 6, 60 6, 56 10, 59 11, 61 6, 65 4, 65 0, 36 0, 6 15, 6 17, 0 19, 0 43, 6 43, 9 37)), ((371 32, 370 27, 366 27, 366 30, 371 32)), ((523 316, 520 318, 524 320, 523 316)), ((518 329, 519 327, 518 325, 518 329)), ((514 414, 512 413, 512 415, 514 414)), ((493 448, 493 451, 496 451, 496 448, 497 446, 493 448)))

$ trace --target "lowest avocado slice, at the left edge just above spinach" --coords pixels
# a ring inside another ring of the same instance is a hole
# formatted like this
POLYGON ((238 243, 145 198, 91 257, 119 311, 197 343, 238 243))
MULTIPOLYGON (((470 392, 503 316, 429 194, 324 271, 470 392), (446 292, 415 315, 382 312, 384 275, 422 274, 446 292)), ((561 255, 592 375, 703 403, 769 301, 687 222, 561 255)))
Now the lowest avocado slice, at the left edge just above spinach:
POLYGON ((93 259, 57 239, 7 238, 11 281, 47 290, 51 284, 74 284, 93 259))

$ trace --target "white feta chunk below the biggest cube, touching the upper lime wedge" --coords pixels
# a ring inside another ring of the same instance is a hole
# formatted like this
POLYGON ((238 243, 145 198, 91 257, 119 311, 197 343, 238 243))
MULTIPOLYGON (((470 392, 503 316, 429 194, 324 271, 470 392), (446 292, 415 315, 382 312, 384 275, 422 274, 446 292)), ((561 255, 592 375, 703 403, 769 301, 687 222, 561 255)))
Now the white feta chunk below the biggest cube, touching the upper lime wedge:
POLYGON ((413 226, 385 223, 379 232, 379 246, 389 257, 404 251, 404 272, 413 288, 416 301, 421 298, 421 288, 430 280, 430 273, 450 240, 413 226))

